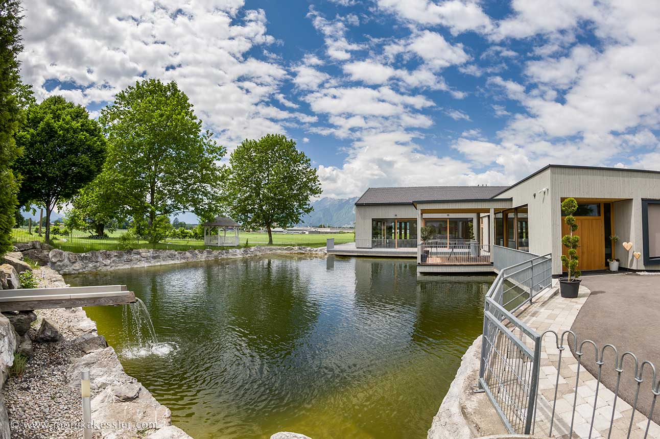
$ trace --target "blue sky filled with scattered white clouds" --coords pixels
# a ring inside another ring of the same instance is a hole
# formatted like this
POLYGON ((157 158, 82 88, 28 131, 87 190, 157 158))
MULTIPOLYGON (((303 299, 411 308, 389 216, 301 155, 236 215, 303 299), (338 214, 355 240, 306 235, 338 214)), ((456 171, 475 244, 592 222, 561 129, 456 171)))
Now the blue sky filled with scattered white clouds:
POLYGON ((22 75, 92 115, 176 80, 232 150, 281 132, 326 196, 660 169, 657 0, 26 0, 22 75))

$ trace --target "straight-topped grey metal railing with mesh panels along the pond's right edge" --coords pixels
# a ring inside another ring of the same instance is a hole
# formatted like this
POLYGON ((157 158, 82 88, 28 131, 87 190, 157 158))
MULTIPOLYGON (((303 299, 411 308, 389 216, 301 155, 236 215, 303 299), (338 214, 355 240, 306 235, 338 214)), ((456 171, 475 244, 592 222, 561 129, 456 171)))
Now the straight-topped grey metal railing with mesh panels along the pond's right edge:
MULTIPOLYGON (((498 247, 493 249, 495 265, 498 253, 510 250, 498 247)), ((533 429, 541 336, 513 313, 552 285, 550 254, 527 255, 528 260, 500 270, 486 294, 479 367, 479 389, 486 392, 506 428, 519 434, 533 429)))

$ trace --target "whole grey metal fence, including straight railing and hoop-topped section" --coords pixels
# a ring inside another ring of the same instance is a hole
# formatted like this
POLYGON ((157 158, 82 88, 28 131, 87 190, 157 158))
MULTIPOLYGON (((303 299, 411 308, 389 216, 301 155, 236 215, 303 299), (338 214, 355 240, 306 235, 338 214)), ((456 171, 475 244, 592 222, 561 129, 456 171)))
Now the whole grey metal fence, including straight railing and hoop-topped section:
MULTIPOLYGON (((495 266, 524 258, 522 253, 494 246, 495 266)), ((550 255, 527 258, 502 268, 486 294, 477 391, 486 393, 511 433, 660 438, 653 423, 660 375, 651 361, 620 354, 611 344, 579 341, 570 330, 539 334, 517 317, 552 283, 550 255), (564 355, 567 348, 574 355, 564 355)))

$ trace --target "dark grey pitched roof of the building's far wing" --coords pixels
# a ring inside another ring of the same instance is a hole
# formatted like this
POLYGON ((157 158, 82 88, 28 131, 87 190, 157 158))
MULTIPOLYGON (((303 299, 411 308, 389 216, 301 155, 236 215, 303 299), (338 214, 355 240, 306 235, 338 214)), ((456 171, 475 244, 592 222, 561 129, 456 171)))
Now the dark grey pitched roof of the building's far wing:
POLYGON ((482 200, 508 186, 370 187, 355 204, 413 204, 420 201, 482 200))

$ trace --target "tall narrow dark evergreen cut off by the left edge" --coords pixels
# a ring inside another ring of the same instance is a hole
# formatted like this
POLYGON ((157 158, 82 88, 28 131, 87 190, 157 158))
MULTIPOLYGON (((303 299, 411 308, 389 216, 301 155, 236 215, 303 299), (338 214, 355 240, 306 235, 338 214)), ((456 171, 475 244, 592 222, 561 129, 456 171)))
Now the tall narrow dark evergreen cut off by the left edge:
POLYGON ((11 251, 18 181, 10 167, 20 150, 15 134, 22 121, 18 76, 21 7, 19 0, 0 0, 0 257, 11 251))

